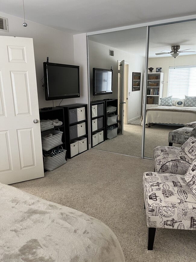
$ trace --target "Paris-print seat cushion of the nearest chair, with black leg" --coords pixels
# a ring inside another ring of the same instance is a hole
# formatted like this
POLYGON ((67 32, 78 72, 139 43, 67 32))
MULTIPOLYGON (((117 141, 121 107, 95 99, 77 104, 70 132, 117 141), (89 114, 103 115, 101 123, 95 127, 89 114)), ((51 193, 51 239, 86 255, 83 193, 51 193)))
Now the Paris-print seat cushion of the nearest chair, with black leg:
POLYGON ((147 225, 196 230, 196 200, 183 175, 144 173, 147 225))

